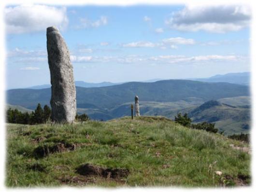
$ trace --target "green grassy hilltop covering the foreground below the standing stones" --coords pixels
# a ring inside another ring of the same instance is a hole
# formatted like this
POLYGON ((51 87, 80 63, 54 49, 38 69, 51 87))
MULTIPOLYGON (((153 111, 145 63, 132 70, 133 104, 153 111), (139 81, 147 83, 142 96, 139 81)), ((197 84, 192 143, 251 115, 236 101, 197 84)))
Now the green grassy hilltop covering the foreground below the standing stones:
POLYGON ((159 116, 53 126, 8 124, 7 134, 8 187, 216 187, 235 185, 239 174, 251 174, 250 155, 229 146, 243 143, 159 116), (39 146, 59 142, 77 147, 36 157, 34 151, 39 146), (122 179, 81 176, 75 169, 85 163, 128 168, 129 175, 122 179), (223 176, 214 171, 222 171, 223 176), (225 175, 234 179, 224 181, 225 175))

